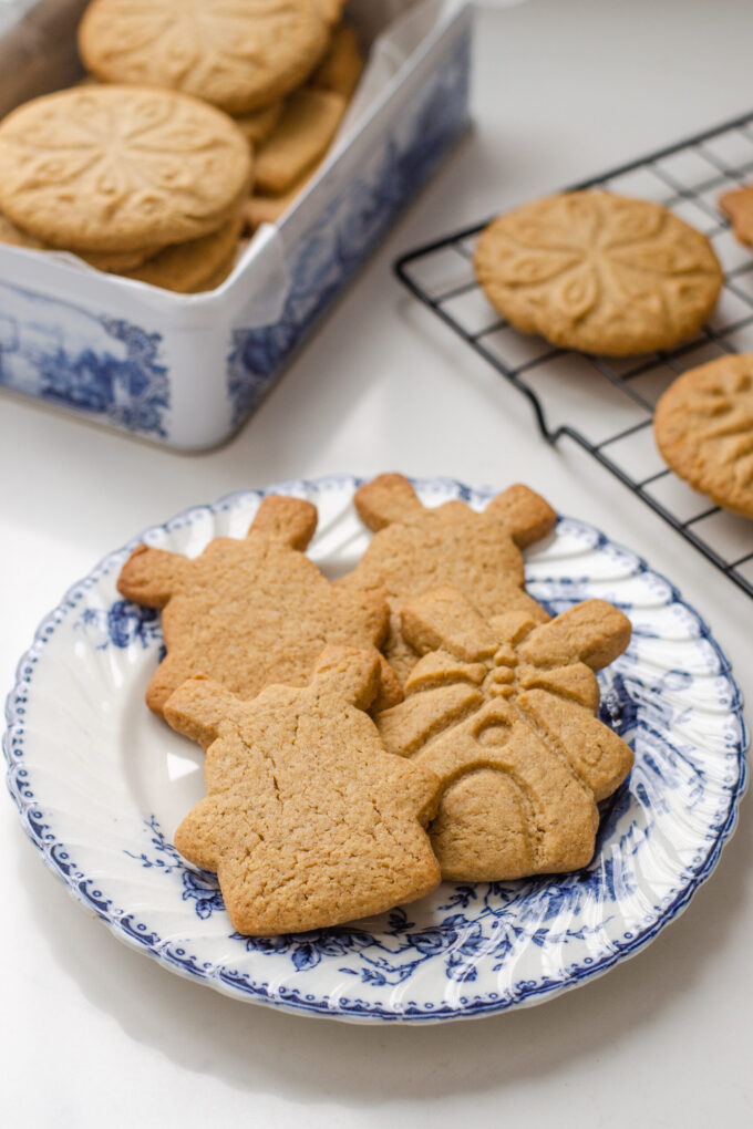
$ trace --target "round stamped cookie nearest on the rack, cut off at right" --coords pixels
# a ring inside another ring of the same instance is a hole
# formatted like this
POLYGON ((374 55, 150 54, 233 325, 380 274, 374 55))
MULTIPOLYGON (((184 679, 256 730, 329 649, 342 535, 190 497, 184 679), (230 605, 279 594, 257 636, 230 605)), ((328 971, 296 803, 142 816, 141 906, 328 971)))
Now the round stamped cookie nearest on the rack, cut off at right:
POLYGON ((683 373, 657 404, 654 434, 681 479, 753 517, 753 353, 683 373))

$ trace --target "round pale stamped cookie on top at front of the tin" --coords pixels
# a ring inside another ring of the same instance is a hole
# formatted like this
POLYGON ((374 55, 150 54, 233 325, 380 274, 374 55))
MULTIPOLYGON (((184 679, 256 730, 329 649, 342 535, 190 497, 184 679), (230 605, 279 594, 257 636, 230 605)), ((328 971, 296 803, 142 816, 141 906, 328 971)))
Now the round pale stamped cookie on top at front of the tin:
POLYGON ((0 208, 53 247, 196 239, 230 217, 251 173, 235 123, 173 90, 60 90, 0 123, 0 208))

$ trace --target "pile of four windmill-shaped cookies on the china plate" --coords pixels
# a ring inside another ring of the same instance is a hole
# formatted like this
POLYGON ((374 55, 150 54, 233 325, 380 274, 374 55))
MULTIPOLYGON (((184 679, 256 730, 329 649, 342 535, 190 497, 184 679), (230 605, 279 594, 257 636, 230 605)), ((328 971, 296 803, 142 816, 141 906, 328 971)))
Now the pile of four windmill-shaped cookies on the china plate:
POLYGON ((555 520, 541 497, 427 509, 387 474, 356 505, 375 535, 334 584, 305 554, 316 510, 281 497, 244 541, 141 545, 119 579, 163 612, 148 704, 207 749, 176 846, 244 934, 585 866, 632 764, 594 674, 629 621, 598 599, 550 620, 524 590, 520 549, 555 520))

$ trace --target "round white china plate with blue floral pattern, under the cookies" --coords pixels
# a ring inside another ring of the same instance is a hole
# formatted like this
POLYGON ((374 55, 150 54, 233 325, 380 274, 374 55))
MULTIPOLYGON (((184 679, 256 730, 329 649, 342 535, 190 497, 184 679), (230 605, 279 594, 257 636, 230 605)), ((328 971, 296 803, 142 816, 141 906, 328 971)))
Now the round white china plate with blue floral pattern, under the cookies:
MULTIPOLYGON (((367 543, 351 478, 288 482, 180 515, 137 540, 194 555, 244 536, 268 492, 319 509, 314 560, 331 576, 367 543)), ((417 483, 428 505, 496 492, 417 483)), ((135 541, 133 542, 135 544, 135 541)), ((42 623, 8 706, 8 781, 45 863, 121 940, 219 991, 351 1021, 436 1022, 541 1003, 648 944, 709 876, 736 822, 745 728, 729 664, 700 616, 633 553, 563 518, 527 555, 528 590, 551 612, 588 596, 632 620, 627 651, 599 676, 602 716, 636 751, 606 804, 584 870, 444 884, 383 917, 246 938, 212 875, 183 861, 174 829, 201 797, 202 754, 155 718, 155 612, 119 598, 133 544, 106 557, 42 623)))

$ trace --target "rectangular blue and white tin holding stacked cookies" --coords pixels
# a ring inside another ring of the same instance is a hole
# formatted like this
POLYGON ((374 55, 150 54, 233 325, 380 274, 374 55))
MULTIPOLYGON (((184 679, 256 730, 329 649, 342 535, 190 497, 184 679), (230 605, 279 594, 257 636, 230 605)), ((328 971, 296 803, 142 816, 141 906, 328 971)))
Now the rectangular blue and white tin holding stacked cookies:
MULTIPOLYGON (((0 111, 75 79, 82 7, 43 0, 0 38, 9 76, 51 12, 59 52, 50 78, 34 67, 38 50, 26 84, 6 78, 0 111)), ((394 7, 352 0, 349 10, 369 36, 394 7)), ((467 123, 470 38, 471 8, 450 0, 413 5, 377 35, 378 93, 217 290, 175 295, 0 244, 0 386, 182 450, 229 438, 467 123)))

